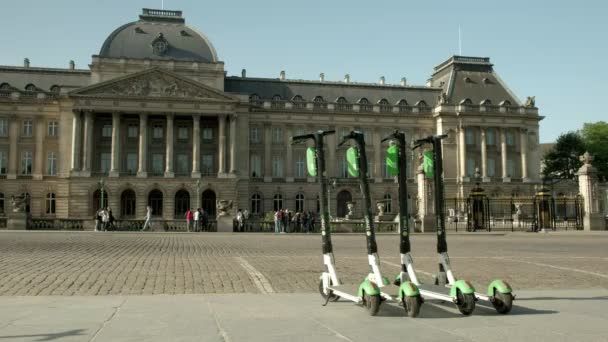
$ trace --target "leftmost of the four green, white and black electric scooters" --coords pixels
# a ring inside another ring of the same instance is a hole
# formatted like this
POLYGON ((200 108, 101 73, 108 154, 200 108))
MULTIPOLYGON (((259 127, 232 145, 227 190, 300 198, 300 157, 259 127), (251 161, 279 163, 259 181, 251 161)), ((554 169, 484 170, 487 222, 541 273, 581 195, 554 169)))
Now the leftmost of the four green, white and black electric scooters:
MULTIPOLYGON (((321 194, 319 196, 319 205, 321 211, 321 239, 325 272, 323 272, 320 277, 319 292, 325 299, 325 304, 323 304, 324 306, 327 305, 329 301, 335 302, 340 298, 344 298, 356 304, 364 304, 368 310, 368 313, 375 316, 380 309, 381 303, 380 289, 377 284, 382 284, 377 256, 375 254, 372 255, 372 253, 368 253, 369 263, 372 266, 373 272, 358 287, 349 287, 348 285, 343 285, 340 282, 336 272, 333 245, 331 242, 331 228, 329 226, 328 202, 326 197, 323 195, 327 193, 323 137, 334 133, 335 131, 333 130, 319 130, 312 134, 299 135, 292 138, 292 144, 303 143, 308 140, 313 140, 314 142, 314 147, 308 148, 306 156, 308 173, 312 177, 317 177, 317 182, 320 187, 319 193, 321 194), (378 280, 380 281, 378 282, 378 280)), ((366 217, 367 222, 369 222, 369 214, 366 217)), ((373 227, 370 227, 369 225, 368 227, 368 250, 373 246, 372 250, 375 253, 376 241, 374 240, 373 227)))

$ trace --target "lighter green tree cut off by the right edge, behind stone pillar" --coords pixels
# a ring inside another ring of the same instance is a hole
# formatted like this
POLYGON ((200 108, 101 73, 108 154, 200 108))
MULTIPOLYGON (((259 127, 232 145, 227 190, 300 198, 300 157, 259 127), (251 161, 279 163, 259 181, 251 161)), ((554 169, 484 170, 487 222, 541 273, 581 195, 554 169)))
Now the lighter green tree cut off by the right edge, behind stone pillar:
POLYGON ((586 123, 580 131, 580 135, 587 147, 587 151, 593 155, 593 166, 598 170, 600 180, 608 180, 608 123, 599 121, 586 123))

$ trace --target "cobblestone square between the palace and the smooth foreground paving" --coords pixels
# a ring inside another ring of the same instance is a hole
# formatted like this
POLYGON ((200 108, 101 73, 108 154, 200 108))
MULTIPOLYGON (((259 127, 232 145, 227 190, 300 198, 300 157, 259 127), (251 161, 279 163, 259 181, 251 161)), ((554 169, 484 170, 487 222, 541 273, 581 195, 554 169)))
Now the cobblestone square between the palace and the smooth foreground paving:
MULTIPOLYGON (((362 235, 334 235, 338 272, 368 272, 362 235)), ((434 235, 412 238, 423 281, 436 271, 434 235), (424 272, 424 273, 423 273, 424 272)), ((608 288, 608 233, 448 236, 456 276, 480 290, 608 288)), ((0 295, 314 292, 318 235, 0 232, 0 295)), ((398 237, 379 235, 382 270, 398 271, 398 237)))

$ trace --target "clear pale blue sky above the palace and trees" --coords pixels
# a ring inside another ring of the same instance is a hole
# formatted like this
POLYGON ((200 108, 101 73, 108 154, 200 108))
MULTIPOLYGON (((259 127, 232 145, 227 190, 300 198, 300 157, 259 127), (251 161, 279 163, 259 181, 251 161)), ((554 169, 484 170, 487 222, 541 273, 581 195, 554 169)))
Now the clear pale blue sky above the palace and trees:
MULTIPOLYGON (((105 38, 161 0, 0 2, 0 64, 84 68, 105 38)), ((541 142, 608 119, 608 1, 165 0, 204 32, 229 75, 424 84, 458 53, 490 57, 520 99, 535 95, 541 142)))

